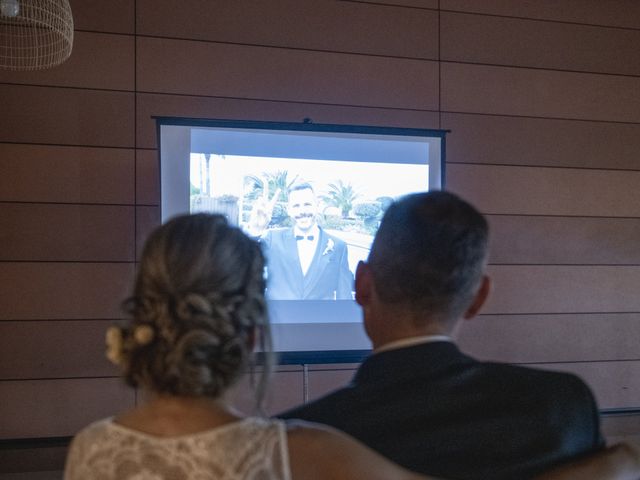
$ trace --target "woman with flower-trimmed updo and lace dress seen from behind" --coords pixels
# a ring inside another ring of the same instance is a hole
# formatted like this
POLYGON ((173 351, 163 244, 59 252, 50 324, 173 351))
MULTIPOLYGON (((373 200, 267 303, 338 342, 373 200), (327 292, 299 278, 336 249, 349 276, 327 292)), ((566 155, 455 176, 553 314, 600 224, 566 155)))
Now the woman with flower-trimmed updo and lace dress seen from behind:
MULTIPOLYGON (((107 332, 107 356, 148 401, 81 431, 65 479, 425 478, 335 430, 243 418, 225 404, 256 339, 268 351, 263 270, 258 244, 219 215, 177 217, 151 234, 124 304, 130 320, 107 332)), ((546 480, 627 478, 611 458, 546 480)))

